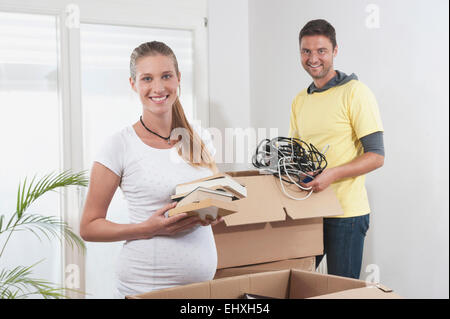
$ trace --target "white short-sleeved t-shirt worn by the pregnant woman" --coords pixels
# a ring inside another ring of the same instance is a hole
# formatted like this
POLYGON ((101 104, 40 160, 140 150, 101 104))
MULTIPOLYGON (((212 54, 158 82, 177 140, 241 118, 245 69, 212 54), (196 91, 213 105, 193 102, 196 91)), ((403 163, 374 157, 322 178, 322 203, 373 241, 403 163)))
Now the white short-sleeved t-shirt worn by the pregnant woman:
MULTIPOLYGON (((200 136, 214 155, 209 133, 203 130, 200 136)), ((95 161, 121 177, 120 188, 131 223, 147 220, 170 203, 177 184, 213 174, 208 168, 194 168, 186 163, 175 147, 156 149, 146 145, 132 126, 112 135, 95 161)), ((126 241, 116 268, 115 295, 124 298, 211 280, 216 267, 217 251, 211 226, 195 226, 173 236, 126 241)))

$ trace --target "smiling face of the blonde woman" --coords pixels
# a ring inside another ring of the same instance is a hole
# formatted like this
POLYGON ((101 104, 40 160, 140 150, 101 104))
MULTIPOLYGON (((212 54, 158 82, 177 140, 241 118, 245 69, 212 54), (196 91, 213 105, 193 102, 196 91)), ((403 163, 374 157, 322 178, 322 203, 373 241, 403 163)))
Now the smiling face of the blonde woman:
POLYGON ((155 115, 172 112, 180 74, 177 74, 171 57, 152 55, 139 58, 136 61, 136 79, 130 79, 130 83, 139 94, 144 110, 155 115))

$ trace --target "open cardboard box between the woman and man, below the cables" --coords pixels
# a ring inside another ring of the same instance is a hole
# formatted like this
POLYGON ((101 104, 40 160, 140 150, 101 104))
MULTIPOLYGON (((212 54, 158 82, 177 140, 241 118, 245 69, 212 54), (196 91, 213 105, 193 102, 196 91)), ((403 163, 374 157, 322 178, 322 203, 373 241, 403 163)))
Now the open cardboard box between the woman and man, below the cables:
MULTIPOLYGON (((247 187, 237 213, 213 227, 218 269, 323 254, 323 217, 342 214, 329 187, 306 200, 283 194, 279 179, 259 171, 228 172, 247 187)), ((301 198, 307 192, 285 186, 301 198)))

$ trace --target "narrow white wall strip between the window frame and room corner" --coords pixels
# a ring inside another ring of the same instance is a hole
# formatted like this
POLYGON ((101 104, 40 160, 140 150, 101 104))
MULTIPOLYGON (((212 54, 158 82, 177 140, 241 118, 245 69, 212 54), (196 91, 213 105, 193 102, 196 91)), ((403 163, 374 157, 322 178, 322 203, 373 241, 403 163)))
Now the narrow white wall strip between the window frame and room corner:
POLYGON ((223 171, 245 169, 235 154, 225 158, 225 135, 227 128, 250 127, 248 1, 209 0, 208 6, 209 126, 217 129, 215 142, 223 141, 216 143, 216 160, 223 171))

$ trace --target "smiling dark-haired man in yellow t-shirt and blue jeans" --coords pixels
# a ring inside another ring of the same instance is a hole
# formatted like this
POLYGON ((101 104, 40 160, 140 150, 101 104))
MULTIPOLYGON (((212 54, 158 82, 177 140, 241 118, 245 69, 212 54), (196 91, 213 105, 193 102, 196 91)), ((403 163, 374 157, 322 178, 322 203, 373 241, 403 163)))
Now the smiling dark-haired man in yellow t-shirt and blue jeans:
MULTIPOLYGON (((318 150, 328 147, 327 168, 305 186, 314 192, 332 187, 344 212, 324 218, 328 273, 359 278, 370 213, 365 174, 384 163, 377 101, 355 74, 334 69, 336 32, 327 21, 308 22, 300 31, 299 44, 302 66, 313 83, 292 103, 289 136, 318 150)), ((316 265, 322 258, 316 257, 316 265)))

